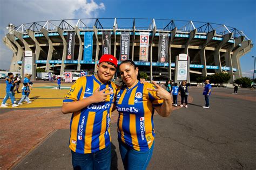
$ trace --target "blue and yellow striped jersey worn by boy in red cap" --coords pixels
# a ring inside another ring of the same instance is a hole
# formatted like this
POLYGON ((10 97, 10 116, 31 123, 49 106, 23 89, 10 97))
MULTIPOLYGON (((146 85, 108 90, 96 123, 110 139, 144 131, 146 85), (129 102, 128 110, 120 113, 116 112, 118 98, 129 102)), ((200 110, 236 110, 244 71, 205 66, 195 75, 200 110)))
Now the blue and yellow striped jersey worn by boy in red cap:
POLYGON ((69 103, 89 97, 100 86, 100 90, 110 87, 105 93, 113 92, 105 102, 93 103, 73 112, 70 121, 70 144, 77 153, 93 153, 102 150, 111 142, 110 117, 117 87, 113 82, 101 83, 94 75, 80 77, 66 94, 63 102, 69 103))

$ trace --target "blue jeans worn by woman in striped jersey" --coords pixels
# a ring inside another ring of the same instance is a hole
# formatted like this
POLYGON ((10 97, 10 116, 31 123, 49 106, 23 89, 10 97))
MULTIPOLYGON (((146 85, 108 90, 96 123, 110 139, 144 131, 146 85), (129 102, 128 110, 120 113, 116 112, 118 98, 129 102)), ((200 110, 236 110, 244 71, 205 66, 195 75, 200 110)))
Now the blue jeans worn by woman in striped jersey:
POLYGON ((146 169, 147 165, 149 165, 150 159, 154 150, 154 141, 150 150, 142 152, 133 150, 129 146, 125 145, 120 139, 119 142, 119 150, 122 157, 124 168, 127 170, 130 169, 146 169))

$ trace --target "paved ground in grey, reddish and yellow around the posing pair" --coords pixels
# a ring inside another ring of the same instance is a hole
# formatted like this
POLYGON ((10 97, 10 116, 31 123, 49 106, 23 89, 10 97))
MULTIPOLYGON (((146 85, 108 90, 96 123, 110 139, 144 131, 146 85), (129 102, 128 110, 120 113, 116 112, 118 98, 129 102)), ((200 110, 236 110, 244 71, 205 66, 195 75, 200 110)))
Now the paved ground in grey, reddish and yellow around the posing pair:
MULTIPOLYGON (((35 83, 31 105, 0 109, 0 169, 72 169, 71 114, 63 115, 60 109, 68 89, 36 88, 53 85, 35 83)), ((213 88, 210 109, 201 108, 201 87, 189 91, 188 108, 173 108, 167 118, 154 116, 156 141, 147 169, 255 169, 256 91, 239 89, 234 95, 232 89, 213 88)), ((111 119, 111 169, 124 169, 117 143, 117 112, 111 119)))

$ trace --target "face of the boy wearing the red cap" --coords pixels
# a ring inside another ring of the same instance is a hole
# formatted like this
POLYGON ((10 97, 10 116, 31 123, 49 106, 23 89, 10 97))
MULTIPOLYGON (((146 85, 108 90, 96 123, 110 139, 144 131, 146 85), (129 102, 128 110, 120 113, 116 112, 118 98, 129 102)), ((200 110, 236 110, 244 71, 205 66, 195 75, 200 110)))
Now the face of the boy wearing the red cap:
POLYGON ((102 62, 98 65, 97 76, 102 83, 110 81, 114 73, 116 73, 116 68, 107 62, 102 62))

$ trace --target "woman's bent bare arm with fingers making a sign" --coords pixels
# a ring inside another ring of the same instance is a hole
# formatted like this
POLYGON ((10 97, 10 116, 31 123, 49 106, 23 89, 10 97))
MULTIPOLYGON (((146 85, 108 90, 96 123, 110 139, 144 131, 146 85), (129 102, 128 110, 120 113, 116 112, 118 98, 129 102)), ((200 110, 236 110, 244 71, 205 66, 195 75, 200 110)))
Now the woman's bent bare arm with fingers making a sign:
POLYGON ((163 117, 168 117, 172 111, 172 97, 165 89, 161 88, 156 82, 153 81, 154 86, 156 89, 147 89, 150 91, 156 91, 157 97, 163 99, 164 102, 161 106, 155 107, 158 114, 163 117))

